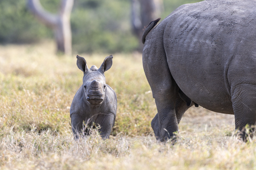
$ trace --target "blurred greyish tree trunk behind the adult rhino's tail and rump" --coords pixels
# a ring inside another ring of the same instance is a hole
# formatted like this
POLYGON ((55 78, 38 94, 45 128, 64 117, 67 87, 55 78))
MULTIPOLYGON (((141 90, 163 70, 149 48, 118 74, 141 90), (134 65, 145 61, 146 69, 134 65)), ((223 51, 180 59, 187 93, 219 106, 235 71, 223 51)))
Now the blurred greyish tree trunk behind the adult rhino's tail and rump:
POLYGON ((142 51, 143 44, 141 36, 144 28, 152 21, 160 17, 163 11, 162 0, 131 0, 131 22, 134 34, 139 39, 139 50, 142 51))

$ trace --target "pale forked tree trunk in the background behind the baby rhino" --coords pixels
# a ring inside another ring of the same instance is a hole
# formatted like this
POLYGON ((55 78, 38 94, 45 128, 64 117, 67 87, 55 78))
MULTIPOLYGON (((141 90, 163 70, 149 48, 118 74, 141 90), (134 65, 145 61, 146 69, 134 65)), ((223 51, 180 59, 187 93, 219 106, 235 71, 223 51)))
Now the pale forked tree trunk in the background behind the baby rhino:
POLYGON ((72 34, 70 14, 73 7, 73 0, 62 0, 58 14, 51 14, 45 11, 39 0, 27 0, 27 6, 43 24, 54 30, 57 53, 71 55, 72 34))

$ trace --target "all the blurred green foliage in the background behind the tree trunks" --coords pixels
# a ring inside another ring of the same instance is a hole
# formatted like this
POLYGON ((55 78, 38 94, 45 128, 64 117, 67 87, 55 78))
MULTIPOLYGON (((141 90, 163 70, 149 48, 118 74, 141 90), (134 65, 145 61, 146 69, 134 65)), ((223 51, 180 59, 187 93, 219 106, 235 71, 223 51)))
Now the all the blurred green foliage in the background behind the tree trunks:
MULTIPOLYGON (((41 0, 51 13, 61 0, 41 0)), ((184 3, 199 0, 163 0, 162 20, 184 3)), ((26 7, 26 0, 0 1, 0 44, 37 43, 54 39, 50 28, 40 23, 26 7)), ((130 53, 139 41, 131 30, 129 0, 75 0, 71 14, 73 53, 130 53)))

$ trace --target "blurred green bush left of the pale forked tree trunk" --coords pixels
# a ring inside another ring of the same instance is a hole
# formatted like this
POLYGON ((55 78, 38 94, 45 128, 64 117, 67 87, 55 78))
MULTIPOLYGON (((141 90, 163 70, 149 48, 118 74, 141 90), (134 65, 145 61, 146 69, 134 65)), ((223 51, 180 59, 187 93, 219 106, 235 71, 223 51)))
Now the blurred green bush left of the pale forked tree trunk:
POLYGON ((0 43, 32 43, 51 32, 31 15, 25 1, 0 1, 0 43))

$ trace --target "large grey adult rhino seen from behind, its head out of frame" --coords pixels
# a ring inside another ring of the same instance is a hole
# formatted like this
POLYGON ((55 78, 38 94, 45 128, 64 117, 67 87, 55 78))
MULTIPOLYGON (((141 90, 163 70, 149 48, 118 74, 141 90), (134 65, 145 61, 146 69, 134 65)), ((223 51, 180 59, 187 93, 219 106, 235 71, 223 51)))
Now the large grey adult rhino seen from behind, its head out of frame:
POLYGON ((185 4, 145 29, 142 60, 158 112, 151 122, 157 140, 173 137, 184 112, 198 104, 234 114, 246 141, 244 127, 256 121, 255 9, 253 0, 185 4))

